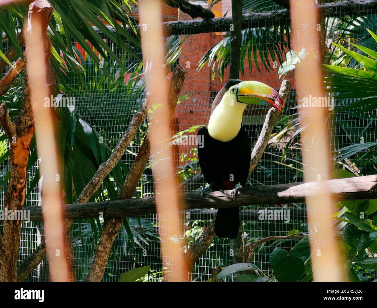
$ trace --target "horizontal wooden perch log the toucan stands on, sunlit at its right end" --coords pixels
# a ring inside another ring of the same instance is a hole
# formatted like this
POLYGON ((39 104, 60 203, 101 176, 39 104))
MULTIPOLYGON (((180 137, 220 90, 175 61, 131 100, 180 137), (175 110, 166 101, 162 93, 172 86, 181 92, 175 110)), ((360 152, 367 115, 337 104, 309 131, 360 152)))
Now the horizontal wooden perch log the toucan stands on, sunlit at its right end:
MULTIPOLYGON (((211 191, 201 197, 200 191, 190 191, 179 195, 185 209, 229 208, 244 205, 271 205, 304 202, 305 197, 320 196, 328 193, 337 200, 377 199, 377 175, 360 176, 347 179, 334 179, 308 183, 290 183, 279 185, 261 185, 238 190, 232 201, 231 190, 211 191), (323 184, 328 192, 323 191, 323 184)), ((28 206, 30 220, 43 221, 40 206, 28 206)), ((94 218, 99 213, 108 217, 147 215, 156 213, 155 197, 113 200, 110 202, 92 202, 67 204, 63 206, 65 218, 94 218)))

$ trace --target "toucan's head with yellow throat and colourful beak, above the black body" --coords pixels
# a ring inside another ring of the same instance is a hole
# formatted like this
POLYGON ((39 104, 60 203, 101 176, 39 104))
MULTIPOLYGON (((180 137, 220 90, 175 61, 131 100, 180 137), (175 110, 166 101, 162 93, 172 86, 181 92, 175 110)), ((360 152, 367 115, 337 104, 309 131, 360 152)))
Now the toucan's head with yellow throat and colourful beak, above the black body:
POLYGON ((208 122, 208 133, 216 140, 227 142, 237 136, 241 129, 242 114, 246 104, 269 105, 280 111, 283 108, 282 98, 270 86, 252 80, 239 81, 219 92, 220 94, 226 90, 208 122))

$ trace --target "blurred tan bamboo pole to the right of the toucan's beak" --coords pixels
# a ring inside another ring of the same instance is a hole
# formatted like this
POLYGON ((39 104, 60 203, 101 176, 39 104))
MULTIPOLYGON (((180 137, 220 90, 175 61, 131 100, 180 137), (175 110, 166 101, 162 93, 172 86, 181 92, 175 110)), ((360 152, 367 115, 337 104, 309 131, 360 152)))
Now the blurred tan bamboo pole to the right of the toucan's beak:
MULTIPOLYGON (((325 97, 322 91, 322 72, 320 70, 321 46, 319 40, 320 23, 317 8, 312 0, 291 0, 291 24, 294 50, 303 47, 307 52, 295 72, 298 102, 325 97)), ((317 181, 326 193, 328 187, 321 182, 330 178, 330 155, 326 108, 300 107, 302 156, 304 181, 317 181)), ((306 197, 310 246, 313 252, 314 281, 345 281, 343 260, 338 255, 335 231, 330 219, 334 214, 336 200, 324 194, 306 197)))

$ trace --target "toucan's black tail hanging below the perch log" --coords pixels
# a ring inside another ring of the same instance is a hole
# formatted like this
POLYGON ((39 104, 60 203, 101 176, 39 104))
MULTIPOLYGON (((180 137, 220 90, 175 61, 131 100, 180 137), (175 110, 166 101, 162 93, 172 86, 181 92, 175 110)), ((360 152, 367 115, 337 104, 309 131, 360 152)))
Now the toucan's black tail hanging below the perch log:
POLYGON ((238 234, 238 229, 238 207, 218 209, 215 221, 216 236, 236 238, 238 234))

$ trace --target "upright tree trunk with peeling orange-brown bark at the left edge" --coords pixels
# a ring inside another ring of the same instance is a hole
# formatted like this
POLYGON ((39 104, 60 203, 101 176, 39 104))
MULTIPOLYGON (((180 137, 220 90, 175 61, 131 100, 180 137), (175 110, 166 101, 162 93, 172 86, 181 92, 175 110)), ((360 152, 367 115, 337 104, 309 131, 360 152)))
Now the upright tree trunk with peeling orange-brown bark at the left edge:
MULTIPOLYGON (((34 14, 45 17, 44 50, 47 62, 51 56, 51 42, 47 36, 47 26, 51 20, 52 12, 53 9, 47 1, 37 0, 29 5, 29 20, 34 14)), ((23 44, 22 39, 19 42, 23 44)), ((25 56, 27 58, 27 50, 25 51, 25 56)), ((23 81, 20 112, 12 122, 9 118, 6 105, 3 103, 0 106, 0 122, 10 142, 9 186, 4 197, 4 209, 8 210, 8 214, 11 214, 10 211, 22 210, 25 202, 26 169, 29 160, 31 139, 34 135, 27 67, 23 81)), ((9 282, 16 281, 17 279, 20 236, 20 220, 11 219, 3 222, 2 237, 0 237, 0 281, 9 282)))

